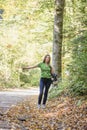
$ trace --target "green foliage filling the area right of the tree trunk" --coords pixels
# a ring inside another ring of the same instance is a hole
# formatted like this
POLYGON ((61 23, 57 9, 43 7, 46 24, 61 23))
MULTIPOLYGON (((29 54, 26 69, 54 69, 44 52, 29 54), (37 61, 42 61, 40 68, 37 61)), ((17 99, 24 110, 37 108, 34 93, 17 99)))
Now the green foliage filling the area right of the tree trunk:
POLYGON ((86 15, 86 1, 75 0, 66 3, 63 62, 64 71, 68 71, 68 75, 65 74, 64 78, 69 80, 69 92, 75 95, 87 94, 86 15))

